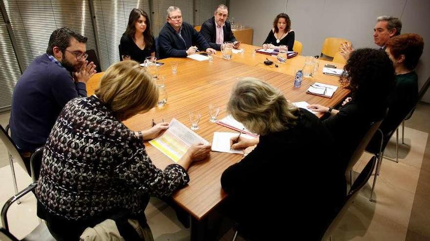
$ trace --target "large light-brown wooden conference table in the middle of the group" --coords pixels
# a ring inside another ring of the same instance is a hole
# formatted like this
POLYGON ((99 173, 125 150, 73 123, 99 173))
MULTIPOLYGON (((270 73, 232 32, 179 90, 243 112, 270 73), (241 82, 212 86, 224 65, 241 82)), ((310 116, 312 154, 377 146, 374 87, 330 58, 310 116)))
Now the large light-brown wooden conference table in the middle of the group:
MULTIPOLYGON (((295 56, 286 63, 265 66, 263 60, 267 58, 276 61, 275 57, 256 54, 252 50, 258 47, 242 44, 244 54, 234 54, 233 59, 225 60, 218 52, 213 63, 196 61, 190 58, 167 58, 160 62, 165 63, 159 68, 160 75, 166 77, 168 102, 162 108, 153 108, 151 111, 138 114, 124 121, 131 130, 144 130, 151 128, 151 120, 155 122, 169 122, 176 118, 186 126, 190 126, 188 114, 190 111, 199 111, 201 120, 199 130, 195 132, 209 142, 212 142, 214 131, 236 132, 221 125, 209 122, 208 105, 211 103, 221 107, 218 119, 227 115, 226 105, 230 92, 240 77, 256 77, 279 88, 290 101, 306 101, 310 104, 318 103, 324 106, 335 106, 349 93, 339 88, 332 98, 325 98, 305 93, 310 84, 315 81, 338 85, 339 77, 322 74, 323 65, 327 61, 319 60, 318 73, 311 79, 303 78, 300 88, 294 88, 295 69, 304 65, 304 56, 295 56), (178 62, 178 73, 172 74, 171 62, 178 62)), ((337 64, 338 68, 343 66, 337 64)), ((95 74, 87 83, 88 95, 94 93, 104 73, 95 74)), ((321 115, 320 115, 321 117, 321 115)), ((146 143, 146 150, 152 162, 164 169, 173 161, 150 144, 146 143)), ((194 163, 188 170, 190 183, 173 194, 173 200, 192 216, 192 239, 203 240, 202 234, 194 230, 205 221, 206 216, 226 197, 222 190, 220 178, 222 172, 242 158, 239 154, 211 152, 207 160, 194 163), (200 233, 200 234, 197 234, 200 233), (199 236, 200 235, 200 236, 199 236), (199 236, 199 237, 198 237, 199 236)))

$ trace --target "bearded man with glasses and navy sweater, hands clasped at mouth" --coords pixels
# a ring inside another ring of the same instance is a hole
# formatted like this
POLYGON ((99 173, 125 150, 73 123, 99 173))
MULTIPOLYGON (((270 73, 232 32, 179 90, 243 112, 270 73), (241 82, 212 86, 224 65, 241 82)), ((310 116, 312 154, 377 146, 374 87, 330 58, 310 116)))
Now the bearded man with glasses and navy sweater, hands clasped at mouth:
POLYGON ((46 54, 25 69, 12 97, 10 130, 30 173, 30 156, 42 147, 64 105, 86 96, 95 65, 86 61, 86 37, 59 28, 49 38, 46 54))

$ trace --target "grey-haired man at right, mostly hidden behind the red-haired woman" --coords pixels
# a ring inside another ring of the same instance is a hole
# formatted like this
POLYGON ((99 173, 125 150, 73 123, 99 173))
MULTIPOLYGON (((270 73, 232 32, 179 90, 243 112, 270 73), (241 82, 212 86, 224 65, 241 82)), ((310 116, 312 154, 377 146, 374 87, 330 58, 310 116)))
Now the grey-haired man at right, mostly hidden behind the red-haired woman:
MULTIPOLYGON (((376 19, 375 27, 373 28, 373 41, 379 46, 380 50, 385 51, 385 44, 391 37, 400 35, 402 31, 402 22, 398 18, 391 16, 380 16, 376 19)), ((341 46, 341 55, 345 59, 349 58, 351 52, 354 51, 349 43, 343 43, 341 46)))

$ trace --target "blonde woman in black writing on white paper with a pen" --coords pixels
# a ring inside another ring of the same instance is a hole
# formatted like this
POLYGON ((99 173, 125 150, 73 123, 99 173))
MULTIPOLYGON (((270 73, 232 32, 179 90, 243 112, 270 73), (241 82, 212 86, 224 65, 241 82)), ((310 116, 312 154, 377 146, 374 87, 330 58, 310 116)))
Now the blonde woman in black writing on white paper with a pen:
POLYGON ((259 134, 257 139, 232 138, 232 148, 257 147, 221 177, 229 194, 227 212, 239 222, 241 235, 280 239, 284 222, 270 221, 287 217, 294 220, 288 224, 289 234, 300 234, 303 240, 321 238, 346 191, 339 158, 329 151, 330 133, 314 114, 255 78, 237 82, 227 109, 246 129, 259 134), (280 198, 285 193, 291 198, 280 198))

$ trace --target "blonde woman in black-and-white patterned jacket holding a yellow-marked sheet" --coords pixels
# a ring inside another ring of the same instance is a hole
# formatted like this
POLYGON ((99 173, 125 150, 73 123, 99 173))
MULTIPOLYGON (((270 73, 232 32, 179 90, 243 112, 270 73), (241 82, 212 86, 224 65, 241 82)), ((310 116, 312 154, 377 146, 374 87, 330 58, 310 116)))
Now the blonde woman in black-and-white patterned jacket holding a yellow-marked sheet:
POLYGON ((65 105, 46 142, 36 189, 38 216, 57 241, 77 241, 87 227, 118 217, 128 229, 134 230, 127 224, 132 219, 149 231, 144 213, 149 197, 171 196, 190 181, 193 161, 208 156, 210 145, 193 145, 177 163, 155 167, 144 141, 169 124, 133 131, 122 121, 151 110, 157 100, 145 68, 126 60, 108 68, 94 95, 65 105))

